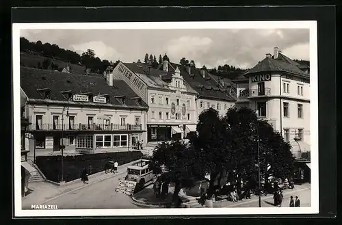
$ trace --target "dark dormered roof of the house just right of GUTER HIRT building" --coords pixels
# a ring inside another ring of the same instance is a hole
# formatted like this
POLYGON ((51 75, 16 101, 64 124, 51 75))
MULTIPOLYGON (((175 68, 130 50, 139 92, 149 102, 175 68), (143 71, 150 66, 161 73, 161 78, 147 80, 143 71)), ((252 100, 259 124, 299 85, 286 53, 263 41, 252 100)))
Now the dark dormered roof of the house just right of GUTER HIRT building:
MULTIPOLYGON (((169 71, 174 72, 176 67, 181 70, 181 75, 186 83, 188 83, 198 94, 202 97, 207 98, 219 98, 226 101, 235 101, 235 95, 228 93, 228 88, 235 89, 235 84, 229 79, 224 79, 224 87, 220 85, 218 76, 211 75, 209 72, 205 71, 205 78, 200 74, 200 70, 197 68, 191 68, 191 75, 187 72, 186 66, 181 64, 169 63, 169 71)), ((159 66, 162 68, 161 66, 159 66)))

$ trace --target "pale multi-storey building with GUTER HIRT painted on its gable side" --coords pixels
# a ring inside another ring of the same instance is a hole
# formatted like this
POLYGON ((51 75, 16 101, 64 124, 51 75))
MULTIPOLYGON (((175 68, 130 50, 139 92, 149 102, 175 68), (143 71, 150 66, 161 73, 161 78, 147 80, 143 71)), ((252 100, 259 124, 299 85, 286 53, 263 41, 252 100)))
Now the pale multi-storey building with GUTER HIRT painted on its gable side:
POLYGON ((148 104, 147 141, 186 138, 196 132, 196 95, 178 68, 173 72, 148 68, 143 63, 122 63, 105 72, 122 80, 148 104))

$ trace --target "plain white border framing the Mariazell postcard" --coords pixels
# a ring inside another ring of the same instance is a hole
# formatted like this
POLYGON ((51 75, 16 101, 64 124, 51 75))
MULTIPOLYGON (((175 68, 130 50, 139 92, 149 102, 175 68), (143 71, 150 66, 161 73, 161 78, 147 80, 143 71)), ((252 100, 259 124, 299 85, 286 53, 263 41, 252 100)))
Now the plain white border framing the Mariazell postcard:
POLYGON ((319 213, 318 177, 318 64, 317 21, 153 22, 153 23, 15 23, 12 25, 14 116, 14 215, 16 217, 111 215, 246 215, 319 213), (21 29, 310 29, 311 68, 311 207, 205 208, 205 209, 22 209, 20 118, 21 29), (246 210, 247 209, 247 210, 246 210))

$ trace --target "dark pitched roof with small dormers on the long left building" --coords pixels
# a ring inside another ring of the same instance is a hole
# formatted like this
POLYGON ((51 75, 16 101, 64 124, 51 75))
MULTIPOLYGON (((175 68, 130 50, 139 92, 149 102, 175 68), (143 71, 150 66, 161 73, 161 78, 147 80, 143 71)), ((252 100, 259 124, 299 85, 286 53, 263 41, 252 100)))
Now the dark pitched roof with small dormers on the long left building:
MULTIPOLYGON (((113 81, 109 86, 103 77, 77 75, 73 73, 57 72, 52 70, 40 70, 36 68, 21 67, 21 88, 28 98, 44 98, 38 89, 49 88, 51 90, 51 101, 66 101, 61 92, 72 91, 73 94, 92 93, 94 95, 108 94, 111 105, 124 107, 116 96, 126 96, 127 107, 148 107, 144 101, 137 105, 134 97, 138 97, 124 81, 113 81)), ((92 104, 97 103, 79 103, 92 104)), ((108 105, 108 104, 107 104, 108 105)))

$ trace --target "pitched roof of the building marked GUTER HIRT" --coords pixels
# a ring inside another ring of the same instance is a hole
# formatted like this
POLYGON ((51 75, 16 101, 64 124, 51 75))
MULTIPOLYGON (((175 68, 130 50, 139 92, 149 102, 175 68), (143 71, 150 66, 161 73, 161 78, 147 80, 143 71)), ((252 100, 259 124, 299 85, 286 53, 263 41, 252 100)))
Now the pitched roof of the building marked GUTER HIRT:
MULTIPOLYGON (((145 81, 148 87, 170 90, 168 85, 170 84, 170 79, 172 78, 174 71, 172 72, 169 70, 166 72, 155 68, 150 68, 150 70, 148 70, 144 63, 124 63, 124 65, 145 81)), ((197 94, 197 92, 187 83, 185 83, 185 88, 187 92, 197 94)))

